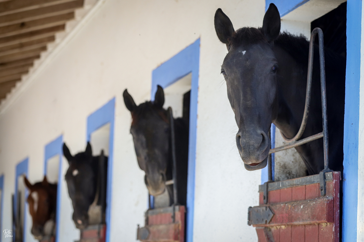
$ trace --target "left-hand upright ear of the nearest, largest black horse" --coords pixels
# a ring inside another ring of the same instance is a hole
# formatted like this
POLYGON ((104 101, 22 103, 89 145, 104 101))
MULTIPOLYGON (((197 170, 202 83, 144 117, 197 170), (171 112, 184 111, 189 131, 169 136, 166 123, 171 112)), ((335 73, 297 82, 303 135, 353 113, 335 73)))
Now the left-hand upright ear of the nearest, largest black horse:
POLYGON ((217 37, 221 42, 226 44, 226 47, 229 49, 229 39, 232 37, 235 30, 229 17, 222 12, 221 8, 218 8, 215 12, 214 24, 217 37))

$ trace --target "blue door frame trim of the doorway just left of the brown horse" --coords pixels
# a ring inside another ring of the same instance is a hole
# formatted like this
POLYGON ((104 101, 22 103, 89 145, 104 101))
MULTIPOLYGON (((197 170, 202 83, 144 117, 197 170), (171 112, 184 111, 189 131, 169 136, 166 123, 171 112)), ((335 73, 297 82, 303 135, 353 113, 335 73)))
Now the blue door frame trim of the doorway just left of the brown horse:
MULTIPOLYGON (((13 208, 15 208, 15 215, 16 215, 16 204, 17 204, 17 196, 18 196, 18 177, 21 175, 25 175, 28 176, 28 157, 25 158, 24 160, 20 161, 20 163, 18 163, 16 165, 15 168, 15 191, 14 191, 14 203, 13 203, 13 208)), ((28 197, 28 189, 25 187, 25 198, 28 197)), ((23 242, 25 242, 27 240, 27 202, 26 200, 24 201, 24 227, 23 227, 23 242)), ((14 216, 15 217, 15 216, 14 216)), ((15 231, 15 227, 13 226, 13 231, 15 231)), ((13 237, 13 241, 15 241, 15 234, 13 237)))

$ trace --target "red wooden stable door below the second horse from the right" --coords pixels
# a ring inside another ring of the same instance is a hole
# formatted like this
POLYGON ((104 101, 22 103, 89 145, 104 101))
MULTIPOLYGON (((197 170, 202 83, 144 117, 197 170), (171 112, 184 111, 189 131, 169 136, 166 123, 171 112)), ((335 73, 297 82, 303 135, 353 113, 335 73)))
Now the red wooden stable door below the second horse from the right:
POLYGON ((185 206, 149 209, 145 227, 138 226, 137 239, 143 242, 184 242, 185 206), (174 221, 173 221, 174 216, 174 221))

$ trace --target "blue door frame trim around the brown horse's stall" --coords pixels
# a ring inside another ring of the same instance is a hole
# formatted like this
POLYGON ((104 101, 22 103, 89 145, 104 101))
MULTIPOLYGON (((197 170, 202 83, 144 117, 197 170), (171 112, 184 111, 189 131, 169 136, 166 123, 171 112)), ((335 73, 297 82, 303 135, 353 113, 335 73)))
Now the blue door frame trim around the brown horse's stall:
POLYGON ((59 242, 60 212, 61 212, 61 185, 62 185, 62 143, 63 136, 60 135, 44 147, 44 176, 47 175, 48 159, 59 155, 58 184, 57 184, 57 205, 56 205, 56 242, 59 242))

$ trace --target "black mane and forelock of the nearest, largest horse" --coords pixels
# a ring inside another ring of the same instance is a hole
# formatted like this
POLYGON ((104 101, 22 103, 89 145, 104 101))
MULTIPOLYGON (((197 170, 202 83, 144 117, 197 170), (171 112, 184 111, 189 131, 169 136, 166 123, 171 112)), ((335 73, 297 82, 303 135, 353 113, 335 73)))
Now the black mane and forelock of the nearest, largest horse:
MULTIPOLYGON (((262 28, 252 27, 238 29, 233 33, 232 38, 229 39, 229 44, 232 46, 240 46, 268 42, 261 30, 262 28)), ((316 36, 316 39, 317 38, 318 37, 316 36)), ((308 65, 309 41, 304 35, 301 34, 300 36, 297 36, 287 32, 281 32, 277 39, 274 40, 274 45, 284 49, 301 65, 308 65)), ((314 51, 314 58, 316 59, 316 57, 318 57, 317 45, 315 46, 314 51)), ((342 61, 344 61, 343 57, 339 56, 339 54, 336 54, 331 49, 325 48, 325 62, 328 62, 327 64, 336 66, 342 61)))

